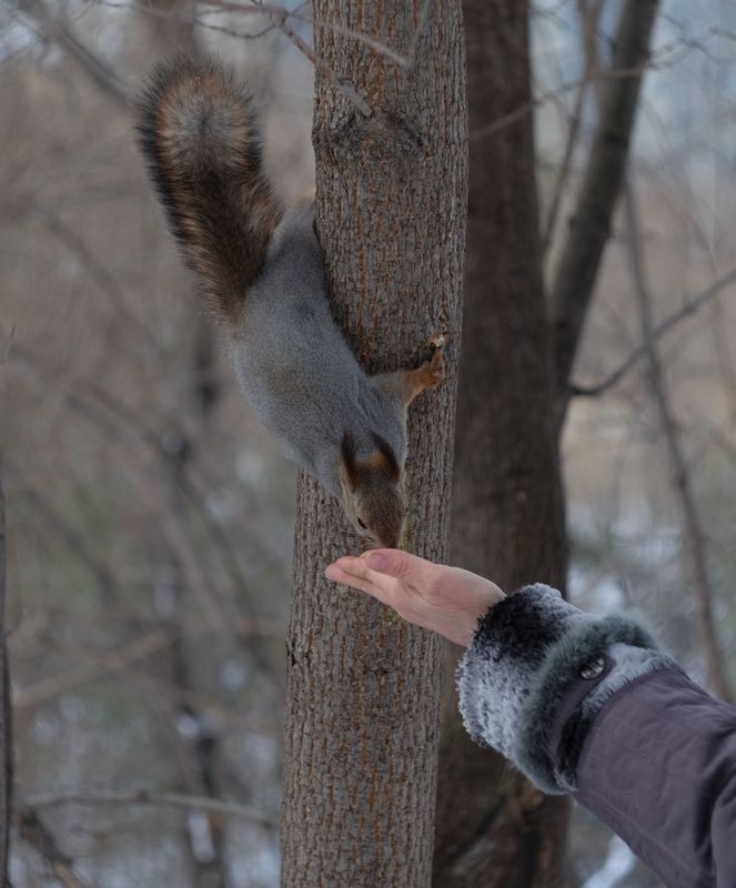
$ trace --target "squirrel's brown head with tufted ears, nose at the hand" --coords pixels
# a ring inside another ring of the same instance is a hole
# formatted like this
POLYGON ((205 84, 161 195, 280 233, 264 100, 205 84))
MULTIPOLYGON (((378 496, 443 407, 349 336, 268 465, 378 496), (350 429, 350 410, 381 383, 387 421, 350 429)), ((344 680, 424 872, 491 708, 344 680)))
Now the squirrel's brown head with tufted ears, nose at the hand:
POLYGON ((371 434, 373 450, 357 454, 345 432, 340 446, 340 490, 345 514, 361 536, 387 548, 399 545, 406 517, 402 466, 391 445, 371 434))

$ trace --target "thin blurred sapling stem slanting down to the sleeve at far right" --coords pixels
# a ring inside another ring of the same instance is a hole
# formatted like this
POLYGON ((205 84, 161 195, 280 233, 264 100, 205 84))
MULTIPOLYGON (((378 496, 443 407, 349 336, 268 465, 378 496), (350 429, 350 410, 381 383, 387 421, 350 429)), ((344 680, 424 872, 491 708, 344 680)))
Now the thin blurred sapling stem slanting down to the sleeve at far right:
POLYGON ((642 324, 642 337, 646 346, 647 379, 652 400, 656 406, 659 424, 665 436, 673 483, 682 512, 685 546, 690 558, 695 587, 695 612, 699 623, 702 644, 705 648, 708 678, 715 693, 722 699, 730 700, 730 688, 713 616, 713 581, 708 567, 706 537, 695 494, 693 493, 693 482, 679 441, 679 432, 669 401, 665 373, 654 341, 652 297, 644 269, 644 258, 641 252, 637 206, 631 186, 625 191, 624 209, 629 234, 627 239, 628 256, 642 324))

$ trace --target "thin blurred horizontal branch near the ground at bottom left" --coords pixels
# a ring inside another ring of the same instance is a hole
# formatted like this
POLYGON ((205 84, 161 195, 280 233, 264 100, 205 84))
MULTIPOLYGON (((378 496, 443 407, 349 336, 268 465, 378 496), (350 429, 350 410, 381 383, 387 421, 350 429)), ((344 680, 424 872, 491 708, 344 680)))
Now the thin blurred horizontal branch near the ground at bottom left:
POLYGON ((240 805, 235 801, 203 796, 188 796, 181 793, 151 793, 148 789, 74 793, 39 793, 28 798, 31 808, 56 808, 61 805, 158 805, 165 808, 183 808, 184 810, 202 810, 224 814, 241 820, 250 820, 269 829, 275 829, 278 821, 263 811, 240 805))

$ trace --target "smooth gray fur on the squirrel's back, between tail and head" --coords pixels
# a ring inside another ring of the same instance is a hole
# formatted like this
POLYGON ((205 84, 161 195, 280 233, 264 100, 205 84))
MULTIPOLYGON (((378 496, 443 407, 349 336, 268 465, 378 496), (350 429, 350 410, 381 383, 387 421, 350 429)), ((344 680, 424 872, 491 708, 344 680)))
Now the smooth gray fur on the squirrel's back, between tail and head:
POLYGON ((340 496, 340 445, 347 432, 359 460, 371 432, 406 457, 405 406, 370 379, 347 347, 327 301, 311 203, 289 210, 232 337, 240 385, 254 412, 299 463, 340 496))

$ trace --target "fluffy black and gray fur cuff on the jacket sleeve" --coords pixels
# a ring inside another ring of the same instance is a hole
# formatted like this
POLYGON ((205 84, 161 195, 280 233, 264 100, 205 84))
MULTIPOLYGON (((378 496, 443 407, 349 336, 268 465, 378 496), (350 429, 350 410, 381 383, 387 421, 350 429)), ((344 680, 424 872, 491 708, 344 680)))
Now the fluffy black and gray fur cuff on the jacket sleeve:
POLYGON ((575 768, 587 728, 604 703, 628 682, 673 662, 652 648, 652 636, 622 616, 584 614, 556 589, 537 583, 492 607, 457 668, 465 728, 497 749, 541 789, 575 789, 575 768), (571 684, 596 659, 606 668, 562 726, 551 735, 571 684))

